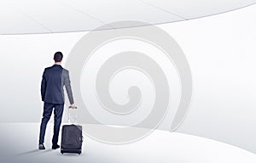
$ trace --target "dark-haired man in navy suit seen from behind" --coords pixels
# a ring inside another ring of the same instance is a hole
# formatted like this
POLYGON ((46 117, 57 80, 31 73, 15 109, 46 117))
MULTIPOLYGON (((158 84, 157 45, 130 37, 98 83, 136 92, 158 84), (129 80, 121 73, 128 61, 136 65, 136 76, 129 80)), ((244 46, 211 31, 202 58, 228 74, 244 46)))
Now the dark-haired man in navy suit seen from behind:
POLYGON ((38 149, 45 149, 44 135, 53 109, 55 114, 55 125, 54 135, 52 138, 52 149, 60 148, 60 145, 58 145, 58 138, 64 108, 64 86, 67 91, 71 108, 76 108, 73 103, 73 93, 70 86, 68 70, 61 67, 62 58, 63 54, 61 52, 56 52, 54 55, 55 65, 44 69, 43 79, 41 82, 41 96, 42 101, 44 101, 44 113, 40 126, 38 149))

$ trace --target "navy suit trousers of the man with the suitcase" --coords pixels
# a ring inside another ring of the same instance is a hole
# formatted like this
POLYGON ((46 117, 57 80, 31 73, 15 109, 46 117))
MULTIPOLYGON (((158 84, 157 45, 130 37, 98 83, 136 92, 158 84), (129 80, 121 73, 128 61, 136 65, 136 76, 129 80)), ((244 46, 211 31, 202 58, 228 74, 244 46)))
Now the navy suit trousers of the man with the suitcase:
POLYGON ((52 138, 52 144, 55 145, 58 143, 61 120, 63 115, 63 108, 64 108, 64 104, 51 104, 51 103, 44 102, 44 113, 43 113, 43 118, 40 126, 39 143, 44 143, 46 126, 52 114, 53 109, 55 114, 55 126, 54 126, 54 135, 52 138))

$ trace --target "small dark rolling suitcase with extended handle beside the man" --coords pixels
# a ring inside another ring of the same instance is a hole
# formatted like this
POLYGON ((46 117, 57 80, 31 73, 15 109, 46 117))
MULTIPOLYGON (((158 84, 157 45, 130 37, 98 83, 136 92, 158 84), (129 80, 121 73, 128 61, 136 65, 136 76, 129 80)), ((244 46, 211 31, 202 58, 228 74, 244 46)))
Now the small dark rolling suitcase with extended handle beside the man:
MULTIPOLYGON (((70 108, 70 107, 69 107, 70 108)), ((70 113, 68 109, 68 123, 70 121, 70 113)), ((74 122, 74 121, 73 121, 74 122)), ((79 125, 63 125, 61 132, 61 154, 64 153, 82 153, 83 134, 82 126, 79 125)))

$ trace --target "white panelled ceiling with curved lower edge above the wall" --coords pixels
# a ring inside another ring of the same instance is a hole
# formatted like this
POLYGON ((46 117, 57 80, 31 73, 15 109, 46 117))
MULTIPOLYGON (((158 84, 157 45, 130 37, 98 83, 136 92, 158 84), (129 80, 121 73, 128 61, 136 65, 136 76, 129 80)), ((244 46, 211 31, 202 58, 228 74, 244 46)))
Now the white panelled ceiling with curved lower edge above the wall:
POLYGON ((91 31, 120 20, 170 23, 253 3, 256 0, 0 0, 0 34, 91 31))

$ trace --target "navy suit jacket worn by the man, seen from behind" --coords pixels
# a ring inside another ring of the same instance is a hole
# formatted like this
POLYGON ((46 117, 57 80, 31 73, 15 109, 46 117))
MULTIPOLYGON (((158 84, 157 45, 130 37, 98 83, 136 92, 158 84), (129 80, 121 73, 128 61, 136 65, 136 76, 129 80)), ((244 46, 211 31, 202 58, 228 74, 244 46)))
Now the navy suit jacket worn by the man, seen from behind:
POLYGON ((65 86, 70 104, 73 104, 73 93, 70 85, 68 70, 61 65, 53 65, 44 69, 41 82, 42 100, 51 104, 64 104, 65 86))

